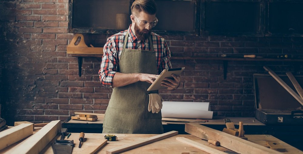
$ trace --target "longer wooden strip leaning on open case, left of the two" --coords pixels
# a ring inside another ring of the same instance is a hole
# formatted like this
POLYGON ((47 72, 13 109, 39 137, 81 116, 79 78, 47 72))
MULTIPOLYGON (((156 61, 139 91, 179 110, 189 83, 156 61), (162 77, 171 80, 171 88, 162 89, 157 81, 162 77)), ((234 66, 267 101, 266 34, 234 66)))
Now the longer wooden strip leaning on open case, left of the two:
POLYGON ((278 82, 282 87, 288 91, 301 105, 303 105, 303 99, 294 91, 292 90, 274 71, 272 71, 267 66, 263 66, 263 68, 268 71, 268 73, 278 82))

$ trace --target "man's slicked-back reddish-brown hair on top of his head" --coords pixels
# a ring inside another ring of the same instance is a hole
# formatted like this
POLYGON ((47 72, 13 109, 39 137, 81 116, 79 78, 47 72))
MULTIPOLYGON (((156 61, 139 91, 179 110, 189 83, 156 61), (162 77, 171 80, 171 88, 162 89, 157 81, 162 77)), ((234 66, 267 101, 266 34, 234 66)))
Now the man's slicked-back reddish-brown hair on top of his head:
POLYGON ((154 0, 135 0, 135 2, 133 2, 131 10, 132 14, 135 13, 135 15, 141 11, 149 15, 154 15, 157 12, 157 5, 154 0))

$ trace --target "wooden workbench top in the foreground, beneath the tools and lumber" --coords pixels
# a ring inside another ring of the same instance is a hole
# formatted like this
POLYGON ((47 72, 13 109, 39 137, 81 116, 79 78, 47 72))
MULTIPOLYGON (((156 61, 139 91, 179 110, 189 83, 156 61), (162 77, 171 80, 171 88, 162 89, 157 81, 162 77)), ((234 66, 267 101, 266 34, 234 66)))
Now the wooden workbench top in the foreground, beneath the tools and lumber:
MULTIPOLYGON (((101 143, 97 143, 98 139, 100 141, 100 139, 104 139, 104 135, 105 134, 98 134, 98 133, 86 133, 85 134, 85 138, 86 141, 83 142, 82 147, 78 148, 79 145, 79 133, 72 133, 72 135, 69 137, 69 140, 74 140, 75 143, 75 147, 73 148, 73 154, 76 153, 89 153, 89 151, 94 150, 94 147, 100 145, 101 143)), ((112 148, 116 148, 119 146, 123 146, 125 144, 128 143, 132 143, 134 141, 138 141, 140 139, 145 139, 145 138, 149 138, 152 136, 155 136, 155 134, 115 134, 118 137, 118 141, 109 141, 105 146, 103 146, 103 148, 101 150, 99 150, 97 153, 100 154, 105 154, 106 150, 112 149, 112 148)), ((288 145, 285 142, 282 142, 281 140, 271 136, 271 135, 246 135, 248 137, 248 141, 257 143, 259 145, 262 146, 266 146, 265 145, 265 141, 266 140, 274 140, 274 141, 278 141, 281 143, 281 145, 283 145, 285 147, 285 149, 287 150, 286 153, 302 153, 302 151, 288 145)), ((189 153, 207 153, 204 151, 201 151, 197 148, 194 148, 192 146, 189 146, 187 144, 184 144, 182 142, 179 142, 176 140, 176 137, 186 137, 188 139, 194 140, 196 142, 200 142, 203 144, 206 144, 207 146, 210 146, 212 148, 221 150, 221 151, 227 151, 228 149, 221 147, 221 146, 213 146, 209 143, 207 143, 207 141, 201 140, 200 138, 193 136, 193 135, 176 135, 176 136, 172 136, 170 138, 167 139, 163 139, 160 140, 158 142, 154 142, 145 146, 141 146, 138 147, 136 149, 132 149, 129 151, 126 151, 124 153, 183 153, 183 152, 189 152, 189 153)), ((59 139, 60 136, 57 136, 57 139, 59 139)), ((48 146, 46 146, 43 151, 41 153, 46 153, 46 154, 53 154, 52 152, 52 147, 51 144, 49 144, 48 146)))

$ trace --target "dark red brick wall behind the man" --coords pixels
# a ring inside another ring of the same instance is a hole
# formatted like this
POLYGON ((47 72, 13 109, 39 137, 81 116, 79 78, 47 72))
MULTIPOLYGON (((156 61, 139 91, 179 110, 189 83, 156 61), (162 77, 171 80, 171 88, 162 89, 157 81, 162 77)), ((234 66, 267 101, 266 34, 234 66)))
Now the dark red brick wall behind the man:
MULTIPOLYGON (((14 121, 64 120, 75 111, 104 113, 112 92, 99 83, 100 58, 66 54, 73 38, 67 33, 68 0, 0 1, 0 101, 2 118, 14 121)), ((103 47, 105 34, 86 34, 86 44, 103 47)), ((218 57, 220 54, 290 54, 302 58, 300 37, 164 36, 172 56, 218 57)), ((211 102, 214 116, 254 116, 253 73, 302 74, 294 62, 172 60, 186 67, 179 89, 160 90, 165 100, 211 102)))

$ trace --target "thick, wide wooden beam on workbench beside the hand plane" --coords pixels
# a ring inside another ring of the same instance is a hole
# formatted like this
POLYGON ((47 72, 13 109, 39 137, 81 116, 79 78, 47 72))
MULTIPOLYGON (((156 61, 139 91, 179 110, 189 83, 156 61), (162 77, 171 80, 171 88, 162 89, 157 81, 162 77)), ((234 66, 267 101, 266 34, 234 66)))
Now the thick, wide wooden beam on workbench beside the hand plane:
POLYGON ((211 129, 206 126, 199 125, 197 123, 186 123, 185 124, 185 132, 190 133, 191 135, 197 136, 201 139, 216 139, 220 142, 220 145, 233 150, 234 152, 238 152, 241 154, 267 154, 267 153, 277 153, 272 149, 268 149, 264 146, 260 146, 258 144, 246 141, 244 139, 238 138, 236 136, 232 136, 230 134, 211 129))

